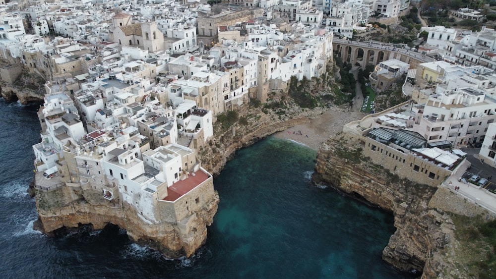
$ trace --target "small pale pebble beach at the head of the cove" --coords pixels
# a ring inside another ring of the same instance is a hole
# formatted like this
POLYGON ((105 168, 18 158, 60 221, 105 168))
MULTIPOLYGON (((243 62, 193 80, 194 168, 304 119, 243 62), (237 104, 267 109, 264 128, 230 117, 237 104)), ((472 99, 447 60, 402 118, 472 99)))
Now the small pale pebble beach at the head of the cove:
POLYGON ((362 119, 366 114, 350 112, 347 109, 331 108, 323 114, 310 119, 310 123, 299 124, 274 134, 277 138, 288 139, 318 150, 320 144, 330 136, 343 130, 343 125, 362 119))

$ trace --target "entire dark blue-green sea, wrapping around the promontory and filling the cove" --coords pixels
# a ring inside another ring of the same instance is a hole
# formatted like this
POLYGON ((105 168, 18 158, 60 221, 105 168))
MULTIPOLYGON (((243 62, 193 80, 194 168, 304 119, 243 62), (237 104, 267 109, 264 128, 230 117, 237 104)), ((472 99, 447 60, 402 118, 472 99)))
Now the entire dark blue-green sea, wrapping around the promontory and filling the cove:
POLYGON ((381 259, 392 215, 313 187, 315 152, 272 137, 214 179, 219 210, 189 259, 165 259, 116 226, 46 237, 26 193, 38 108, 0 98, 1 278, 407 278, 381 259))

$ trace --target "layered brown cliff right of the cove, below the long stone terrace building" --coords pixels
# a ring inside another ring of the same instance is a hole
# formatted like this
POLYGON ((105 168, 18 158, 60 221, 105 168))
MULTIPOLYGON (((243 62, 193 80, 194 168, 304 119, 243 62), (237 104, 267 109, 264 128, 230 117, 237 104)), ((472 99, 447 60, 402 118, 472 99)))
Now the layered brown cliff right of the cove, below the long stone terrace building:
POLYGON ((393 212, 397 230, 382 252, 386 262, 422 278, 467 278, 446 256, 455 230, 449 215, 429 206, 437 188, 400 180, 361 157, 358 141, 337 136, 321 145, 312 179, 393 212))

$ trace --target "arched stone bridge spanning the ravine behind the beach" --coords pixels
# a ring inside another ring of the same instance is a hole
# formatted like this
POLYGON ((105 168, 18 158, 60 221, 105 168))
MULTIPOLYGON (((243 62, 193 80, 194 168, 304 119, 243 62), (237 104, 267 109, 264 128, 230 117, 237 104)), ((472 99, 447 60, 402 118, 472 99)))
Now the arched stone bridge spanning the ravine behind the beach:
POLYGON ((410 64, 410 69, 417 68, 419 63, 434 61, 432 57, 397 48, 393 44, 375 41, 356 42, 333 39, 332 50, 343 62, 354 66, 358 63, 363 69, 367 65, 377 65, 392 58, 410 64))

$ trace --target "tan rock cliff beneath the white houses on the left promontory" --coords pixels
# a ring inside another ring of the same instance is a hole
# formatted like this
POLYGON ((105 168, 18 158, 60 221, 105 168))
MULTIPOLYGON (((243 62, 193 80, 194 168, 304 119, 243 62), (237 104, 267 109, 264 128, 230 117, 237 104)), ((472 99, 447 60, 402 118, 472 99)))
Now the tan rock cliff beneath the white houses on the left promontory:
POLYGON ((126 229, 127 235, 135 242, 161 251, 168 258, 189 257, 205 243, 207 225, 212 224, 218 203, 219 196, 215 193, 201 211, 193 212, 180 223, 148 223, 120 199, 109 202, 102 198, 90 202, 73 187, 52 191, 36 189, 39 221, 35 228, 51 235, 60 228, 91 224, 92 229, 102 229, 113 223, 126 229))

